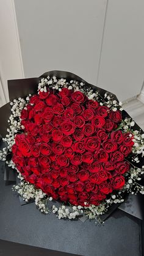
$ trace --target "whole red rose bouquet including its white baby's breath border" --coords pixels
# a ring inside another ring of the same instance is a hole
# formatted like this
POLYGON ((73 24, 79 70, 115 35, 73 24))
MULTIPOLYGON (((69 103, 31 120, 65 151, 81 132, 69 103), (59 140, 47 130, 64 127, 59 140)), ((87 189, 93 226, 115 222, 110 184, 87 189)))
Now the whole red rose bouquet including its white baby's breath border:
POLYGON ((144 194, 144 134, 115 95, 61 75, 45 73, 10 102, 6 163, 20 178, 13 189, 41 212, 99 219, 129 192, 144 194))

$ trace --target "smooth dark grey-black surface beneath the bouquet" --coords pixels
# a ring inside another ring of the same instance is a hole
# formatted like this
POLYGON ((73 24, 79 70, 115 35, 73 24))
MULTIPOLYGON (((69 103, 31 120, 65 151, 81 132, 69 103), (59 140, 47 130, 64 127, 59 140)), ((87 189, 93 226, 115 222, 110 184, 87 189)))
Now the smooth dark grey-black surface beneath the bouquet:
POLYGON ((34 203, 20 205, 12 186, 5 186, 4 163, 0 170, 1 240, 84 256, 142 255, 139 219, 116 210, 98 226, 95 221, 64 221, 41 214, 34 203))

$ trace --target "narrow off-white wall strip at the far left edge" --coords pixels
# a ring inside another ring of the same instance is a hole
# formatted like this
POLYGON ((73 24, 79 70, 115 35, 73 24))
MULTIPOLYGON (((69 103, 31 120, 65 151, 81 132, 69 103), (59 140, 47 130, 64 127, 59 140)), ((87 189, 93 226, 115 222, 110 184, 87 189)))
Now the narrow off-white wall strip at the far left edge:
POLYGON ((12 0, 0 0, 0 106, 9 101, 7 80, 23 78, 23 63, 12 0), (2 90, 3 89, 3 90, 2 90))

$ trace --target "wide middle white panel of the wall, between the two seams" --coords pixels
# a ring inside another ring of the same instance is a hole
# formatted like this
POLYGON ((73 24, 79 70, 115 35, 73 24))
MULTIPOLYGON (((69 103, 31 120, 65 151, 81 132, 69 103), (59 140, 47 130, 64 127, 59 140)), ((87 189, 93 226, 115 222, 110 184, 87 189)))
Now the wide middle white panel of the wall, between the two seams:
POLYGON ((66 70, 95 84, 106 0, 15 0, 24 75, 66 70))

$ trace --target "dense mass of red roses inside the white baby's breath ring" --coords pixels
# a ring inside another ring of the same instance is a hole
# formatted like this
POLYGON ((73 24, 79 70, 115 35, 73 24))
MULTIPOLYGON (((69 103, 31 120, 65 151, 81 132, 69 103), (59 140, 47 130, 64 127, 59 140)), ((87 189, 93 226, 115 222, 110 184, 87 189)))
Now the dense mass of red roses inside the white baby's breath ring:
POLYGON ((13 163, 24 180, 53 199, 99 205, 123 188, 132 136, 117 130, 121 112, 80 91, 39 92, 21 112, 24 133, 15 136, 13 163))

